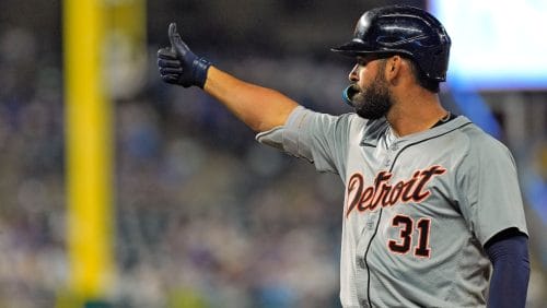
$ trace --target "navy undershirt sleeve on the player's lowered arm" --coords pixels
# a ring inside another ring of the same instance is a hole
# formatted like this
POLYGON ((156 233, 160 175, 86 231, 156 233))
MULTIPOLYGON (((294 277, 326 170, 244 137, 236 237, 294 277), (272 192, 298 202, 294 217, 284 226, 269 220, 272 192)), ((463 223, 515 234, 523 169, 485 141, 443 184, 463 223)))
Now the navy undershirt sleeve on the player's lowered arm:
POLYGON ((528 238, 509 229, 485 245, 493 265, 488 307, 524 307, 529 279, 528 238))

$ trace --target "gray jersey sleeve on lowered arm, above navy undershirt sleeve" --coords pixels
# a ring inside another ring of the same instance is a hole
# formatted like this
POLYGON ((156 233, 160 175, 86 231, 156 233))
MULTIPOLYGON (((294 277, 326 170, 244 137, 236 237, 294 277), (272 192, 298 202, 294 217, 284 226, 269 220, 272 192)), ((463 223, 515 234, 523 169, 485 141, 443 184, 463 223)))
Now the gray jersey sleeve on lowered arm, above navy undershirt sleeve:
POLYGON ((507 228, 527 235, 516 166, 502 143, 491 137, 470 142, 456 177, 462 214, 482 246, 507 228))

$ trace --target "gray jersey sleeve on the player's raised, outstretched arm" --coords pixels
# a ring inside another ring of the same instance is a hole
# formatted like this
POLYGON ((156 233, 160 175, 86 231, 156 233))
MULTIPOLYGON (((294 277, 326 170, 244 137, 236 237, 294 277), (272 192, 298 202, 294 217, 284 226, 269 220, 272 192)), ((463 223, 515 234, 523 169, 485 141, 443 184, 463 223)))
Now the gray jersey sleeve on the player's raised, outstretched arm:
POLYGON ((282 127, 258 133, 256 140, 313 163, 319 171, 345 168, 349 115, 331 116, 296 107, 282 127))

